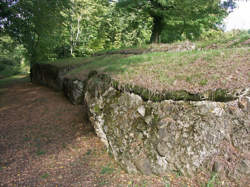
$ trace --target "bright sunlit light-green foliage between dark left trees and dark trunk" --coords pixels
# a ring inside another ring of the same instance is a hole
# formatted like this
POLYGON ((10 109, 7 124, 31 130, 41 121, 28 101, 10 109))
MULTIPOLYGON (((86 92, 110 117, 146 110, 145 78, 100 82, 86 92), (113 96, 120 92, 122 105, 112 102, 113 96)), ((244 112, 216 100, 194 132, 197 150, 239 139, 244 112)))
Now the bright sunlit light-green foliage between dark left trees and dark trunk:
POLYGON ((71 9, 63 14, 64 40, 67 53, 71 56, 140 46, 149 40, 151 20, 141 11, 123 12, 113 3, 101 0, 71 2, 71 9))

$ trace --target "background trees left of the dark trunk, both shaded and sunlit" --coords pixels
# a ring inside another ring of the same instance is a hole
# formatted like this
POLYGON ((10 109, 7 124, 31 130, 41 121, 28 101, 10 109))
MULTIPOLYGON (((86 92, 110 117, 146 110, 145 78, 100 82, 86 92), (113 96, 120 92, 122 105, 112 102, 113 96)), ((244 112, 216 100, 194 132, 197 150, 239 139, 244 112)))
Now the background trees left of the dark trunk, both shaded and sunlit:
POLYGON ((31 63, 142 45, 150 37, 148 16, 109 0, 2 0, 0 8, 1 33, 23 44, 31 63))

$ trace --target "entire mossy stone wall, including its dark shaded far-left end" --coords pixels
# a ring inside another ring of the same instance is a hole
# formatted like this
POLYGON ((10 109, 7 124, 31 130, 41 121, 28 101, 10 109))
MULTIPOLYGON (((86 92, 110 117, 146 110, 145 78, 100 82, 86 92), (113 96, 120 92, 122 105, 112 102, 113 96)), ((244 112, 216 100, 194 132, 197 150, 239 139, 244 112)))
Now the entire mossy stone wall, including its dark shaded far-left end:
POLYGON ((92 72, 75 80, 64 76, 65 69, 48 67, 36 66, 32 80, 63 90, 74 104, 85 103, 96 134, 128 172, 250 175, 250 88, 152 97, 107 75, 92 72))

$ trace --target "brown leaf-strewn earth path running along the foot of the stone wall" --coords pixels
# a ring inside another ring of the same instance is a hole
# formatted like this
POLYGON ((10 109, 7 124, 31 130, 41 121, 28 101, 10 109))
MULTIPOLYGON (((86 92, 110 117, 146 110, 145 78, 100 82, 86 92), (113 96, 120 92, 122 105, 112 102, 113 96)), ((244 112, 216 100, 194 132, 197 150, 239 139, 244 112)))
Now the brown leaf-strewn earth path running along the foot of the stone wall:
POLYGON ((209 174, 195 178, 178 173, 161 177, 127 174, 106 152, 83 106, 28 82, 0 88, 0 186, 229 184, 216 180, 209 174))

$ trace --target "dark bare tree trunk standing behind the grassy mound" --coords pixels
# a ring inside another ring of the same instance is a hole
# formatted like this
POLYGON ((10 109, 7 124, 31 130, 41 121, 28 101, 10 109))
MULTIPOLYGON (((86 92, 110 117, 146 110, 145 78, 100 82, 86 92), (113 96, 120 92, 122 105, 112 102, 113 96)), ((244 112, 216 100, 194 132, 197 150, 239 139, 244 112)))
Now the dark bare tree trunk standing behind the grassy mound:
POLYGON ((163 18, 155 16, 153 17, 153 28, 150 38, 150 43, 160 43, 161 32, 163 30, 163 18))

